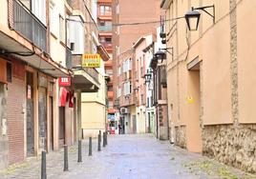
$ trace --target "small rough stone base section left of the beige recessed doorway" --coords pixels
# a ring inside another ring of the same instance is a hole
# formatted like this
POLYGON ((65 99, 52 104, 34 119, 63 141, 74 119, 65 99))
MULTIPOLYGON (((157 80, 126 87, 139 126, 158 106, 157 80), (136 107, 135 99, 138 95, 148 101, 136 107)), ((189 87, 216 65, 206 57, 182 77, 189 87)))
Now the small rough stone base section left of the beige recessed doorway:
POLYGON ((175 145, 186 149, 185 126, 175 127, 175 145))

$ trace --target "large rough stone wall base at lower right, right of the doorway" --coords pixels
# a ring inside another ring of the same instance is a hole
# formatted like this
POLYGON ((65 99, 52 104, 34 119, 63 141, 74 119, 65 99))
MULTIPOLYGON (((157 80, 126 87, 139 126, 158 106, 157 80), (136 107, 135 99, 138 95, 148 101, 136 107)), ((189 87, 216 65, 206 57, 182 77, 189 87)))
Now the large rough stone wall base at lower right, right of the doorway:
POLYGON ((256 172, 256 125, 204 126, 203 155, 256 172))

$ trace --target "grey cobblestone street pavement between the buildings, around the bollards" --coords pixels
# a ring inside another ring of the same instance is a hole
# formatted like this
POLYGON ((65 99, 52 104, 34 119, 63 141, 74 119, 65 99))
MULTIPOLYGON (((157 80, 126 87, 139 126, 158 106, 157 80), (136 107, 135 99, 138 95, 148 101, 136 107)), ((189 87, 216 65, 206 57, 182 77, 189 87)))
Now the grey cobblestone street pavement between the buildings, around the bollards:
MULTIPOLYGON (((214 160, 171 146, 152 135, 108 135, 108 146, 88 156, 88 141, 83 141, 82 163, 77 163, 77 148, 69 149, 69 171, 63 171, 63 149, 47 154, 48 179, 198 179, 255 178, 256 175, 226 167, 214 160)), ((0 171, 1 179, 40 178, 40 157, 0 171)))

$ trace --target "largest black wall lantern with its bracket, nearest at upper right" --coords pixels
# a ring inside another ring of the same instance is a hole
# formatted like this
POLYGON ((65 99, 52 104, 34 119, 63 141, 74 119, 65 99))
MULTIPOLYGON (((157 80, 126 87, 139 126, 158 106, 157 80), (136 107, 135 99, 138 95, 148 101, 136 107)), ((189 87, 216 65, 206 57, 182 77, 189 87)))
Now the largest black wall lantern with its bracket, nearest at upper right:
POLYGON ((185 14, 186 24, 187 24, 188 30, 190 31, 198 30, 200 16, 201 16, 201 13, 198 10, 203 10, 205 13, 210 15, 213 18, 213 24, 215 24, 215 6, 214 5, 199 7, 199 8, 192 7, 192 10, 186 12, 185 14), (212 9, 213 11, 212 14, 206 9, 212 9))

